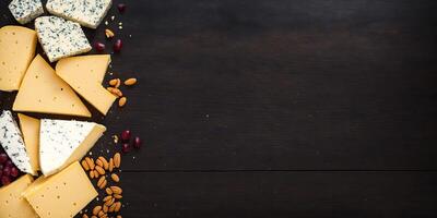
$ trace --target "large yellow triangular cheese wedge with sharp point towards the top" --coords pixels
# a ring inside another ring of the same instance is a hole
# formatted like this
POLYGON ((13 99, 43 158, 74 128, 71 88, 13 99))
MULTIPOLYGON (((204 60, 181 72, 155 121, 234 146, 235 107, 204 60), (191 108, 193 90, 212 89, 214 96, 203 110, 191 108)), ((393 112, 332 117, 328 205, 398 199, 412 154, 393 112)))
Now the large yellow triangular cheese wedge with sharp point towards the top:
POLYGON ((90 111, 55 70, 36 56, 13 104, 15 111, 91 117, 90 111))

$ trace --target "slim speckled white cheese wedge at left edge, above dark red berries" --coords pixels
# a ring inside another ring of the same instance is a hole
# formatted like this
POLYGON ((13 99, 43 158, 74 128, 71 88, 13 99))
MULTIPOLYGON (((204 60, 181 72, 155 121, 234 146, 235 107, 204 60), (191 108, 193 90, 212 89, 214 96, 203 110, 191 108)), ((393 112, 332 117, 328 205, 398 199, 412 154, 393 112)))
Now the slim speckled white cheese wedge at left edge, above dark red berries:
POLYGON ((9 110, 4 110, 0 116, 0 144, 21 171, 36 174, 32 169, 19 125, 9 110))

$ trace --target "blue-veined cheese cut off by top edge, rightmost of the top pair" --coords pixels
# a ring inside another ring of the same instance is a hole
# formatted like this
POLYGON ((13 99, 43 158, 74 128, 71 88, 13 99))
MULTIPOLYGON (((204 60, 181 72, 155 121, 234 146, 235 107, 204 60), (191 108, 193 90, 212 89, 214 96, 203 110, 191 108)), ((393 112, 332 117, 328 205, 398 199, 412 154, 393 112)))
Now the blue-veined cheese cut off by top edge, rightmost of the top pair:
POLYGON ((54 15, 97 28, 111 4, 111 0, 48 0, 46 8, 54 15))

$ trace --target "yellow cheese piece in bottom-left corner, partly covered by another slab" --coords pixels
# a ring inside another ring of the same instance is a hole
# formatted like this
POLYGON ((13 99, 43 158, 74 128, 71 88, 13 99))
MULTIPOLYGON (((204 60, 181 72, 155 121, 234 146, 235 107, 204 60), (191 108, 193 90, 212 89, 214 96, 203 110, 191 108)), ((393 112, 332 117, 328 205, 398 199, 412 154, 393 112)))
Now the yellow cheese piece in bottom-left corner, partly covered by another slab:
POLYGON ((4 218, 36 218, 32 206, 22 196, 22 193, 33 182, 28 174, 21 177, 13 183, 0 189, 0 217, 4 218))

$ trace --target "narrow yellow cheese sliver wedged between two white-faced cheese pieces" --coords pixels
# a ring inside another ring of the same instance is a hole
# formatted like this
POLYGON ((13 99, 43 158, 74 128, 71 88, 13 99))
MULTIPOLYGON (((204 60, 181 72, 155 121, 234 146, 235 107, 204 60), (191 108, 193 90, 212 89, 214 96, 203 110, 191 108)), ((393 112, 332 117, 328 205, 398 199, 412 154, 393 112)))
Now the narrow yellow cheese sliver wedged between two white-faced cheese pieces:
POLYGON ((39 170, 39 120, 19 113, 20 128, 24 137, 31 166, 34 171, 39 170))

